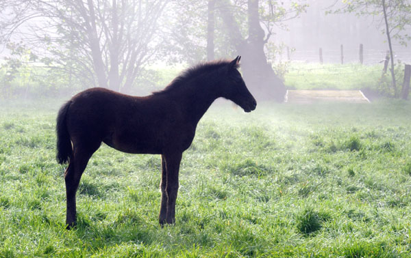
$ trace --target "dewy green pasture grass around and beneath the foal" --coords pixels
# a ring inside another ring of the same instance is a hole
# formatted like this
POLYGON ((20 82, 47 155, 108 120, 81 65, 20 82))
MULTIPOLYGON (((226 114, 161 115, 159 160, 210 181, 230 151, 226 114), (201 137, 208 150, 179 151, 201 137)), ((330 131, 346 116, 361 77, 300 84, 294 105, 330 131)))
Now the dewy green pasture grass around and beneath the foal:
POLYGON ((409 102, 214 104, 164 228, 160 156, 103 145, 71 231, 59 104, 0 104, 0 257, 411 257, 409 102))

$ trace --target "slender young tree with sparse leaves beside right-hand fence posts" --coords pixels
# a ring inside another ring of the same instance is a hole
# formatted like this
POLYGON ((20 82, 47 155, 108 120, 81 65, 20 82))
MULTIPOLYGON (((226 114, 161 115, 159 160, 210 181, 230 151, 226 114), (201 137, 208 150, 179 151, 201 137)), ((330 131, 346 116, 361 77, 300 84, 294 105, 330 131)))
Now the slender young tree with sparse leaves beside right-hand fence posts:
POLYGON ((390 73, 394 96, 399 96, 395 80, 395 65, 393 53, 393 40, 407 46, 411 35, 407 31, 411 29, 411 3, 408 0, 343 0, 343 7, 336 8, 334 13, 353 12, 358 16, 373 16, 382 27, 382 32, 387 36, 387 44, 390 53, 390 73))

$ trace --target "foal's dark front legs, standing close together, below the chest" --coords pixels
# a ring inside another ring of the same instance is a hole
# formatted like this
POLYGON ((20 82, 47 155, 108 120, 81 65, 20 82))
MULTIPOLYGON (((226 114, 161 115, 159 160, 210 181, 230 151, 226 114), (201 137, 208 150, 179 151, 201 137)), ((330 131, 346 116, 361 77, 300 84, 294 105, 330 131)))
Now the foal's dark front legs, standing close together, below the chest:
POLYGON ((162 155, 160 225, 175 223, 175 200, 178 192, 179 164, 182 153, 162 155))

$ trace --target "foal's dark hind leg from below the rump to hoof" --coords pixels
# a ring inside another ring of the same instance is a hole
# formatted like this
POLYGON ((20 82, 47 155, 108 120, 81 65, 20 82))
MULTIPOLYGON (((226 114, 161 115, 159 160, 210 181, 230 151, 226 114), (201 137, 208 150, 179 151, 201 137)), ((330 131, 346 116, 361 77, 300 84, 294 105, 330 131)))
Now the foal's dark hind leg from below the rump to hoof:
POLYGON ((75 147, 73 158, 70 160, 69 167, 64 174, 64 181, 66 182, 66 225, 70 229, 76 224, 76 207, 75 207, 75 193, 79 187, 80 178, 86 169, 88 160, 92 154, 98 149, 87 150, 82 147, 75 147))

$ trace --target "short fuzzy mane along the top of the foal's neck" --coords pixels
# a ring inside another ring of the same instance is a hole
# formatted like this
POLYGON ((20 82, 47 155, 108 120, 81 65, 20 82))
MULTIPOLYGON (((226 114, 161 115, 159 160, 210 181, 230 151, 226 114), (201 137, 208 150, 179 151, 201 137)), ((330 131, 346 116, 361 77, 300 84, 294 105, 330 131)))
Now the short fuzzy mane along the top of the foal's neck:
MULTIPOLYGON (((178 89, 182 85, 185 85, 187 81, 189 81, 191 78, 195 78, 199 75, 202 74, 208 74, 210 72, 214 72, 216 70, 219 70, 220 68, 223 68, 225 66, 228 66, 228 64, 231 61, 229 60, 216 60, 216 61, 209 61, 209 62, 203 62, 203 63, 198 63, 195 66, 192 66, 183 72, 179 74, 179 76, 175 77, 173 81, 169 85, 167 85, 164 89, 161 91, 155 91, 153 94, 162 94, 166 93, 169 91, 172 91, 174 89, 178 89)), ((240 65, 236 64, 234 68, 239 68, 240 65)), ((212 80, 212 78, 210 78, 212 80)))

